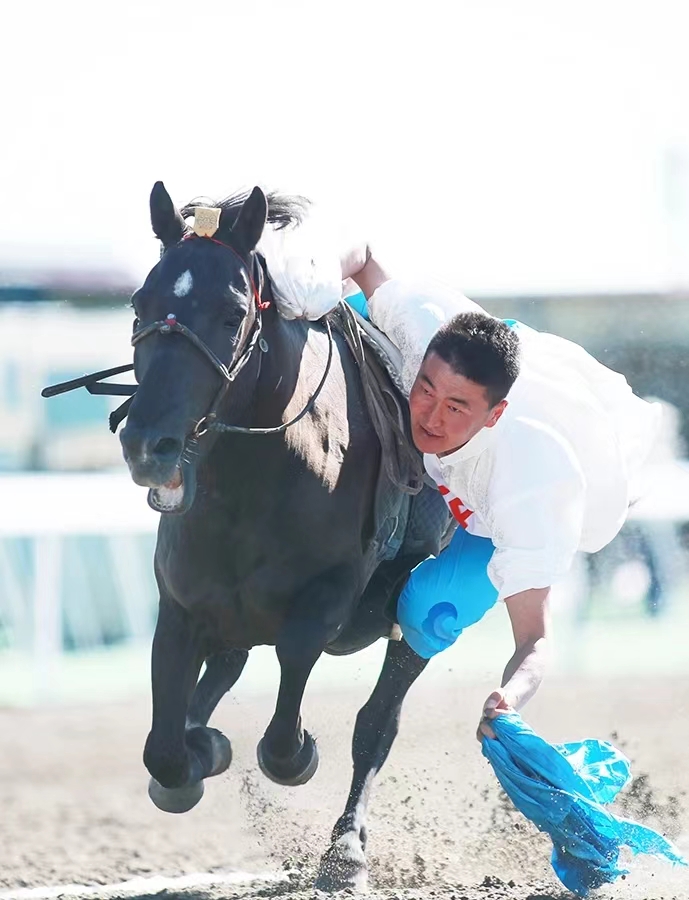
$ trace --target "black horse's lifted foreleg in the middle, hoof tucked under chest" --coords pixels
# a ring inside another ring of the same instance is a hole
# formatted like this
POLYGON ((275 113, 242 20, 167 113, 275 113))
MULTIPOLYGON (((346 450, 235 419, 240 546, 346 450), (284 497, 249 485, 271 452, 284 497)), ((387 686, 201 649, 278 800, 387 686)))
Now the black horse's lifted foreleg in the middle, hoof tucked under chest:
POLYGON ((342 585, 356 583, 345 567, 313 582, 295 604, 275 644, 280 689, 275 713, 258 748, 258 764, 277 784, 305 784, 318 768, 313 737, 302 728, 301 702, 318 657, 336 636, 351 598, 342 585))

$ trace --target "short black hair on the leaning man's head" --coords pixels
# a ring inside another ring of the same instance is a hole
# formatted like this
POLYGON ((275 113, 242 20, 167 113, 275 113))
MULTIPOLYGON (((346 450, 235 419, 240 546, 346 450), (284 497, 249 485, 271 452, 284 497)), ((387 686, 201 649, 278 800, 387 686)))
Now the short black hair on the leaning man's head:
POLYGON ((454 316, 433 335, 429 353, 482 385, 491 406, 505 399, 519 375, 519 338, 509 325, 485 313, 454 316))

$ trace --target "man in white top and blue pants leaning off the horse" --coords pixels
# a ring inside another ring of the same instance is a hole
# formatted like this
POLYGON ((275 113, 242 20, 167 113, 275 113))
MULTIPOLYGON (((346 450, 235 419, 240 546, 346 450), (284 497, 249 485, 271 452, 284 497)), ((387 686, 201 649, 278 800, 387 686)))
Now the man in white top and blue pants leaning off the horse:
MULTIPOLYGON (((478 732, 494 737, 488 720, 520 709, 543 678, 552 585, 577 550, 600 550, 622 527, 659 408, 570 341, 390 278, 366 245, 341 258, 341 274, 401 351, 414 443, 461 526, 410 575, 402 634, 430 658, 504 601, 515 651, 478 732)), ((326 311, 313 303, 289 314, 326 311)))

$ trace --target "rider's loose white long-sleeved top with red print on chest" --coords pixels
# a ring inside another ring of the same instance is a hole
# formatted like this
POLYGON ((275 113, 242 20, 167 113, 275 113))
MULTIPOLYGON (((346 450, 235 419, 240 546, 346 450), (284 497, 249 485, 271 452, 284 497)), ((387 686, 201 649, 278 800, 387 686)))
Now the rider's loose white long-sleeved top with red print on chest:
MULTIPOLYGON (((369 300, 371 320, 402 351, 407 388, 438 327, 468 310, 483 311, 428 282, 388 281, 369 300)), ((495 544, 488 574, 501 599, 554 584, 577 550, 615 537, 660 417, 577 344, 515 328, 520 374, 497 424, 449 456, 424 457, 460 525, 495 544)))

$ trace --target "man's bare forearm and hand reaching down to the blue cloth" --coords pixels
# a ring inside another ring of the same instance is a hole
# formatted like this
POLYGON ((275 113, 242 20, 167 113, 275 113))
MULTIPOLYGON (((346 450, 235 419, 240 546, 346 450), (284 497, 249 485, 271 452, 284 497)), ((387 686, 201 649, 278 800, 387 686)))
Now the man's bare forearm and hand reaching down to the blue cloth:
POLYGON ((549 587, 532 588, 505 600, 512 622, 515 650, 505 666, 501 689, 493 691, 483 704, 483 718, 477 734, 479 740, 483 735, 495 737, 488 719, 494 719, 510 709, 521 709, 543 680, 550 631, 549 595, 549 587))

